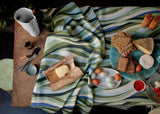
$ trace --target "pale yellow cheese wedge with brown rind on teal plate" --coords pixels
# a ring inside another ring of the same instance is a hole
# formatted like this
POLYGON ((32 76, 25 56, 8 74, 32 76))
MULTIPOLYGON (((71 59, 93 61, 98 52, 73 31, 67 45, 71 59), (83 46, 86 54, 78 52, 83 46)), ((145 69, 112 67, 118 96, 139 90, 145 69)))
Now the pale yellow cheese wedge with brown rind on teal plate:
POLYGON ((147 55, 151 55, 154 49, 154 41, 152 37, 143 38, 133 41, 134 45, 147 55))

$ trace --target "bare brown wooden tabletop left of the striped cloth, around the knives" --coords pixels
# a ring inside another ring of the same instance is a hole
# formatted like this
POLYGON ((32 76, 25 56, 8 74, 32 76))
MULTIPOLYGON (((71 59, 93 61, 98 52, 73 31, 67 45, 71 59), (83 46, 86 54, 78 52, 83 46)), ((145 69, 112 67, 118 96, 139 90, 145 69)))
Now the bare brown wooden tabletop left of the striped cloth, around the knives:
MULTIPOLYGON (((42 59, 44 44, 46 37, 49 34, 46 29, 42 29, 38 37, 32 37, 26 32, 17 22, 15 22, 14 34, 14 69, 23 64, 26 59, 20 59, 28 55, 33 49, 28 50, 25 47, 27 41, 34 42, 34 46, 41 47, 38 57, 32 61, 31 64, 40 66, 42 59)), ((25 72, 20 70, 13 73, 13 91, 12 91, 12 106, 15 107, 28 107, 31 104, 31 97, 33 87, 36 83, 37 75, 28 76, 25 72)))

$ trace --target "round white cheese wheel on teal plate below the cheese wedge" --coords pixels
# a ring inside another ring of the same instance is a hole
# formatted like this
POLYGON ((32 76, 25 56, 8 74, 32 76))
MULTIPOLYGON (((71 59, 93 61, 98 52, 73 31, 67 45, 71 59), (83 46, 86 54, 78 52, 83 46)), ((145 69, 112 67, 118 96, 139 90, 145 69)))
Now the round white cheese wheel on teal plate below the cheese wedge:
POLYGON ((139 63, 144 69, 149 69, 154 65, 154 59, 150 55, 142 55, 139 59, 139 63))

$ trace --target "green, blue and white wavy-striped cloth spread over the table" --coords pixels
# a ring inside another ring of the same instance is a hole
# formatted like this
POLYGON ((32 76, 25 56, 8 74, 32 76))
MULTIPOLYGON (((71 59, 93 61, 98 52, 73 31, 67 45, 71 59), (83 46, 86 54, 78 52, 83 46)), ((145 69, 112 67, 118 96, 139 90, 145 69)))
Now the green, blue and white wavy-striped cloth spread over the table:
POLYGON ((159 39, 160 26, 153 31, 140 26, 147 13, 160 15, 160 9, 137 6, 80 8, 73 2, 57 8, 48 28, 54 33, 46 39, 31 106, 49 113, 71 113, 76 106, 82 113, 89 113, 94 105, 128 108, 154 104, 145 92, 137 93, 134 90, 134 80, 123 79, 118 88, 111 90, 93 88, 91 84, 95 68, 111 67, 109 50, 113 34, 122 30, 127 33, 140 32, 155 40, 159 39), (52 92, 42 71, 69 55, 76 56, 75 64, 82 69, 84 75, 74 83, 52 92))

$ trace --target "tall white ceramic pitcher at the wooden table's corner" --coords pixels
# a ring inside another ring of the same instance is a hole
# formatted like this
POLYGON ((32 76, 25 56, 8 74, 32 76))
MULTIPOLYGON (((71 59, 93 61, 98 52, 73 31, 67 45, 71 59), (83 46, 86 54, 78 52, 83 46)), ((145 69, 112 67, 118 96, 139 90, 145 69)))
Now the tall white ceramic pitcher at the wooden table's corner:
POLYGON ((14 14, 14 19, 33 37, 40 34, 40 29, 36 17, 32 10, 28 8, 20 8, 14 14))

